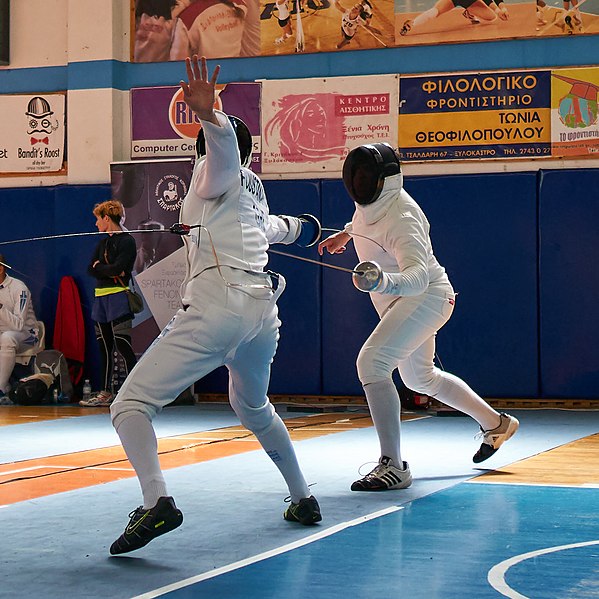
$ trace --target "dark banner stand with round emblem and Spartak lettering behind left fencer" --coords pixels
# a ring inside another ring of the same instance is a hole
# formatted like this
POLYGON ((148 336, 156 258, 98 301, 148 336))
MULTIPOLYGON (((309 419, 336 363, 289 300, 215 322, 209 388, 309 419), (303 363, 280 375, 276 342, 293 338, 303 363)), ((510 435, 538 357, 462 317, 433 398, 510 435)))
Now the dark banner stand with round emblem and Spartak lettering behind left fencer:
POLYGON ((110 165, 112 197, 125 208, 123 226, 134 233, 137 256, 133 278, 145 300, 136 314, 134 349, 143 352, 180 307, 185 276, 183 242, 169 232, 191 179, 192 161, 115 162, 110 165))

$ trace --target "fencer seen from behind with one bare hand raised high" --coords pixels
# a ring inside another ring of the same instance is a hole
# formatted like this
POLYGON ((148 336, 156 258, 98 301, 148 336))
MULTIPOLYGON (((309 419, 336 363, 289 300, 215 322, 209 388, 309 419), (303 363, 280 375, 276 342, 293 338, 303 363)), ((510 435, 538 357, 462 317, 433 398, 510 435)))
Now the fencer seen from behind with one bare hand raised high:
MULTIPOLYGON (((177 528, 181 511, 168 494, 153 418, 184 389, 220 366, 229 371, 229 402, 281 472, 291 496, 284 518, 321 520, 289 433, 270 403, 270 365, 279 339, 276 300, 281 275, 265 272, 270 243, 309 243, 320 231, 310 215, 269 214, 260 179, 248 168, 250 132, 237 117, 214 109, 219 67, 186 60, 186 104, 201 121, 198 160, 181 207, 187 272, 182 308, 148 348, 111 406, 114 427, 138 476, 143 505, 131 514, 112 554, 139 549, 177 528)), ((226 473, 223 473, 226 476, 226 473)), ((200 484, 200 483, 198 483, 200 484)))

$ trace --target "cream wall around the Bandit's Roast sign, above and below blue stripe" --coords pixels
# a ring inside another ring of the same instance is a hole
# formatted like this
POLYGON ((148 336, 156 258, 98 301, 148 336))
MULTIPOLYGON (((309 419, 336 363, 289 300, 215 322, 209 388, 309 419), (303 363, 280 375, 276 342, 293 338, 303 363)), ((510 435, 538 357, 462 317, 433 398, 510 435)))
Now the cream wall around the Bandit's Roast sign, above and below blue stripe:
MULTIPOLYGON (((10 17, 10 65, 1 68, 130 58, 129 0, 13 0, 10 17)), ((3 177, 0 187, 108 183, 110 162, 129 159, 129 92, 66 91, 67 174, 3 177)))

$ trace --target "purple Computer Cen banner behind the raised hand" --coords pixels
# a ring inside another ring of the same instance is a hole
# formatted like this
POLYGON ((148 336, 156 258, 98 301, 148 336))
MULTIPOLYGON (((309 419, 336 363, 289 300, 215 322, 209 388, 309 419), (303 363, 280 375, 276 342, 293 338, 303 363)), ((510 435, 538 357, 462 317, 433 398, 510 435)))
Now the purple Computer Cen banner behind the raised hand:
MULTIPOLYGON (((260 84, 219 86, 216 108, 247 124, 254 139, 252 168, 260 172, 260 84)), ((131 158, 195 156, 200 121, 183 101, 179 86, 131 90, 131 158)))

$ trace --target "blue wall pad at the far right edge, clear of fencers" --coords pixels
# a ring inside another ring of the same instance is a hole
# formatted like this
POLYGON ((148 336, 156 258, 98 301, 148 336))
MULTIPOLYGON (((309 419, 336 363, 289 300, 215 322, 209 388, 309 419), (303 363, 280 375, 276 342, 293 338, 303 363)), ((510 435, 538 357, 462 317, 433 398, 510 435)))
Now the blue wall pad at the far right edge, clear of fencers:
POLYGON ((539 177, 541 393, 599 397, 599 171, 539 177))

